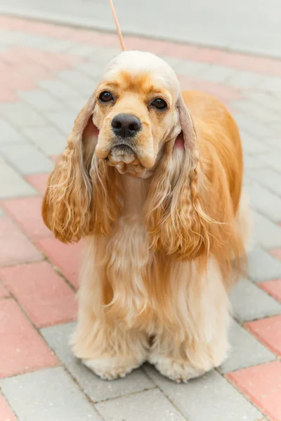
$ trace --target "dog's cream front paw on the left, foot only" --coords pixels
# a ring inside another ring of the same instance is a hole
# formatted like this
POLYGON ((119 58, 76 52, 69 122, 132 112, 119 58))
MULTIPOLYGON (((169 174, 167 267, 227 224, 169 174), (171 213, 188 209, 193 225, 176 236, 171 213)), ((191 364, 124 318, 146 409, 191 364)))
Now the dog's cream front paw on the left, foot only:
POLYGON ((82 359, 82 362, 101 379, 115 380, 119 377, 125 377, 126 374, 140 367, 144 360, 132 361, 124 357, 105 356, 98 359, 82 359))

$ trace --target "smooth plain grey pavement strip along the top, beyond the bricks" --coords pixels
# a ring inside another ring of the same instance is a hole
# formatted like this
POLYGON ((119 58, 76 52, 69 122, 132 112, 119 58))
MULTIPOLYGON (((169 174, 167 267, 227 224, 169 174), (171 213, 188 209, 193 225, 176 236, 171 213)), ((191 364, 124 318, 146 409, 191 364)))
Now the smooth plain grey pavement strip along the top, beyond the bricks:
MULTIPOLYGON (((281 58, 280 0, 115 0, 122 29, 281 58)), ((0 13, 115 31, 108 0, 0 0, 0 13)))

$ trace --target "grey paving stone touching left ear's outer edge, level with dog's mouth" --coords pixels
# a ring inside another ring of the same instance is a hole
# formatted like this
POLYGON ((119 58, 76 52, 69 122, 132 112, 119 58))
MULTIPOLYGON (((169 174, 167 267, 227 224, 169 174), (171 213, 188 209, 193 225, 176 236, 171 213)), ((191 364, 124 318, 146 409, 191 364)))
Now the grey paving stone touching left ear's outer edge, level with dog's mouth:
POLYGON ((24 128, 22 133, 47 155, 58 155, 67 145, 65 135, 52 126, 24 128))

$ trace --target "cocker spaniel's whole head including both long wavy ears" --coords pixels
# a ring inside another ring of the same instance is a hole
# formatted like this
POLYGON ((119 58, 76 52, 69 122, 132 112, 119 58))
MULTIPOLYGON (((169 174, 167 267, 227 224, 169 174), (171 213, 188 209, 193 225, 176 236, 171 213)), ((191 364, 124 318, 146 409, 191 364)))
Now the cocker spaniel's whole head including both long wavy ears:
POLYGON ((48 181, 44 221, 64 242, 109 234, 122 208, 116 175, 150 177, 144 212, 152 243, 190 255, 204 241, 206 222, 198 162, 195 127, 174 71, 151 53, 121 53, 74 122, 48 181))

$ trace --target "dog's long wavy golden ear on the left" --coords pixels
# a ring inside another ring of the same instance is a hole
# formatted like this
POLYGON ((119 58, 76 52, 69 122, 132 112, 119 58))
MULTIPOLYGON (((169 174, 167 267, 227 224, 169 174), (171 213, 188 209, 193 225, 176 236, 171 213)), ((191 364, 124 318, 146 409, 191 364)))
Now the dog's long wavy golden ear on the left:
POLYGON ((98 135, 92 114, 95 96, 86 102, 74 121, 67 147, 48 178, 42 205, 45 224, 65 243, 76 242, 91 230, 91 156, 98 135))

